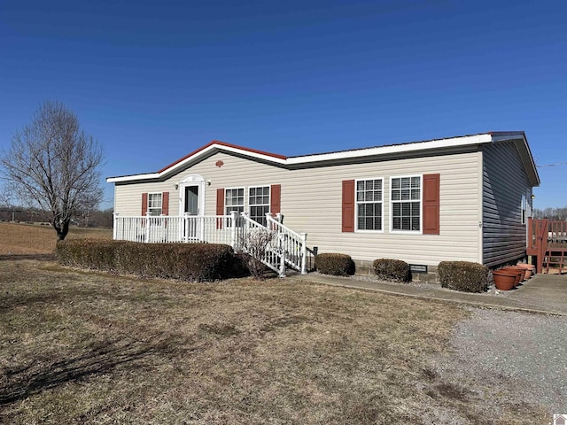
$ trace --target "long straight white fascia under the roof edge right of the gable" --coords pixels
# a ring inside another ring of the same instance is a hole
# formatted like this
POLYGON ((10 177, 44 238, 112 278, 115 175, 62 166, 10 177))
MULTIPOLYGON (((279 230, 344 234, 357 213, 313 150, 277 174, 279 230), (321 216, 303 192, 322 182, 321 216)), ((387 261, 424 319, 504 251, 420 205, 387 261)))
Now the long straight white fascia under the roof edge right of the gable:
POLYGON ((309 162, 331 161, 333 159, 363 158, 376 155, 388 155, 395 153, 406 153, 412 151, 423 151, 430 149, 452 148, 457 146, 467 146, 471 144, 490 143, 493 138, 489 134, 467 135, 464 137, 453 137, 451 139, 431 140, 429 142, 416 142, 406 144, 393 144, 391 146, 378 146, 376 148, 366 148, 353 151, 340 151, 331 153, 321 153, 304 157, 287 158, 287 165, 306 164, 309 162))

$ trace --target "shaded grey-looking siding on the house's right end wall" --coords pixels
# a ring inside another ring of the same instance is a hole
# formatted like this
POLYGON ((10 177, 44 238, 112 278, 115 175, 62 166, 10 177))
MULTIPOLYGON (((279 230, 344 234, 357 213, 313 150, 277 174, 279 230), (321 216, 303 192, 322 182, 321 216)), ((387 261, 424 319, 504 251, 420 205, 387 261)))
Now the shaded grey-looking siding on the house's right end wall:
POLYGON ((514 143, 487 145, 483 156, 483 257, 493 267, 525 255, 521 202, 532 188, 514 143))

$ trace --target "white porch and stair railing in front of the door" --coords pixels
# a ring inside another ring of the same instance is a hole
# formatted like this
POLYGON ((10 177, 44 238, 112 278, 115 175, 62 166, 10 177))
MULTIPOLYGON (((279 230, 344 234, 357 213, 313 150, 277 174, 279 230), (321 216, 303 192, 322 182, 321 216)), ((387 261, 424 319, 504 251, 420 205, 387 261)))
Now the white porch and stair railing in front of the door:
POLYGON ((235 251, 246 251, 279 276, 285 267, 307 273, 307 234, 286 228, 283 216, 266 214, 267 225, 252 220, 245 213, 195 216, 121 216, 114 214, 115 240, 143 243, 225 243, 235 251), (268 237, 260 251, 251 248, 260 233, 268 237), (255 239, 256 238, 256 239, 255 239))

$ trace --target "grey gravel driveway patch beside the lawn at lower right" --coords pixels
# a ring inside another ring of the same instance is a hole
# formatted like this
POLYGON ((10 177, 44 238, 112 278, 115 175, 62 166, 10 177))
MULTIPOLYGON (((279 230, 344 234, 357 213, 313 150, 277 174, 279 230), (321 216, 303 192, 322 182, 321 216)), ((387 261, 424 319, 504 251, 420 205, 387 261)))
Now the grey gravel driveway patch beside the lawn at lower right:
MULTIPOLYGON (((438 382, 499 417, 501 406, 567 413, 567 317, 471 308, 451 339, 452 351, 433 359, 438 382)), ((463 397, 464 398, 464 397, 463 397)), ((456 405, 455 405, 456 406, 456 405)), ((474 423, 458 406, 430 413, 431 423, 474 423)))

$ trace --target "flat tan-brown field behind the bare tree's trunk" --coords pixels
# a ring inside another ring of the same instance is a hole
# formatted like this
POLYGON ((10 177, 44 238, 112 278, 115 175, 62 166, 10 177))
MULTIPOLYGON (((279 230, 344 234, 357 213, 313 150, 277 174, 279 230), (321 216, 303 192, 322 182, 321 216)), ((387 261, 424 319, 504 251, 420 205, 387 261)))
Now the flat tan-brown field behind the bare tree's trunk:
MULTIPOLYGON (((112 239, 111 229, 70 228, 67 238, 112 239)), ((56 233, 50 226, 0 222, 0 255, 46 254, 55 251, 56 233)))

